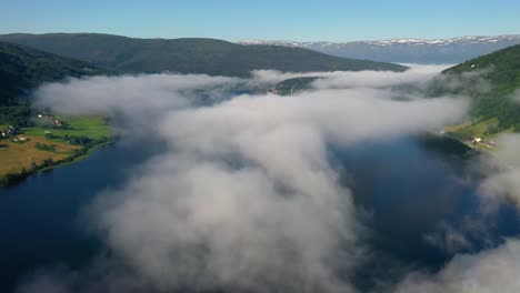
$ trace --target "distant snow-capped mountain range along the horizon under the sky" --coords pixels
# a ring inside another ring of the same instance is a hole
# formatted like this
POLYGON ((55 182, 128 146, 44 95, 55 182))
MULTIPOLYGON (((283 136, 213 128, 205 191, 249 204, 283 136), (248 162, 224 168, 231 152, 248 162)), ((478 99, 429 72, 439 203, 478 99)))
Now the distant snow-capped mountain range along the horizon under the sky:
POLYGON ((294 42, 243 40, 241 44, 306 48, 331 55, 399 63, 459 63, 520 43, 520 34, 452 39, 391 39, 357 42, 294 42))

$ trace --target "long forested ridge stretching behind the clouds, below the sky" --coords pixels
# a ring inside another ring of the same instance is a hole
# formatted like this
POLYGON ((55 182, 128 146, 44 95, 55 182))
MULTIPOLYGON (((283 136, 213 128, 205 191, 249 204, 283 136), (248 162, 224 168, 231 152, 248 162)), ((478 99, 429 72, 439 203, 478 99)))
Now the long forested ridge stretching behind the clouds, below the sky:
POLYGON ((248 77, 251 70, 359 71, 407 68, 331 57, 302 48, 241 46, 214 39, 133 39, 99 33, 3 34, 0 41, 81 59, 123 72, 248 77))

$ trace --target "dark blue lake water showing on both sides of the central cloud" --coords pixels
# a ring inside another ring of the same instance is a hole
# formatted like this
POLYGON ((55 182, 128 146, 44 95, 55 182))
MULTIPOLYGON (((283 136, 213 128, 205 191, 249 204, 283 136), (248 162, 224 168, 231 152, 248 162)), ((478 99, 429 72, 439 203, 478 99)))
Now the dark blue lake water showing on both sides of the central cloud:
MULTIPOLYGON (((100 243, 83 232, 78 216, 96 194, 122 184, 157 151, 136 145, 107 146, 80 163, 0 190, 0 292, 11 291, 38 267, 56 263, 81 267, 89 262, 100 243)), ((360 287, 373 285, 374 276, 398 276, 394 267, 437 270, 453 253, 493 246, 502 236, 520 233, 511 206, 491 215, 479 213, 478 179, 468 171, 472 159, 466 151, 457 143, 422 139, 331 151, 333 162, 349 174, 344 182, 356 203, 371 214, 368 243, 377 261, 357 273, 360 287), (468 222, 484 225, 486 235, 468 229, 468 222), (461 231, 468 243, 446 241, 447 226, 461 231)))

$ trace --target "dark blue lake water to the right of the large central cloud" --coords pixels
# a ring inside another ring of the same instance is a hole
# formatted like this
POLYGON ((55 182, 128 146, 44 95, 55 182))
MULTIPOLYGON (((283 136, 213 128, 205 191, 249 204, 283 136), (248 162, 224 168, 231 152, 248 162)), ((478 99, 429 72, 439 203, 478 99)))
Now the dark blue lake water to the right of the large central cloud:
POLYGON ((518 210, 484 213, 477 195, 478 153, 434 137, 334 149, 354 202, 369 214, 372 259, 354 279, 361 289, 392 282, 411 269, 434 272, 457 253, 499 245, 520 234, 518 210), (451 235, 462 236, 460 241, 451 235))

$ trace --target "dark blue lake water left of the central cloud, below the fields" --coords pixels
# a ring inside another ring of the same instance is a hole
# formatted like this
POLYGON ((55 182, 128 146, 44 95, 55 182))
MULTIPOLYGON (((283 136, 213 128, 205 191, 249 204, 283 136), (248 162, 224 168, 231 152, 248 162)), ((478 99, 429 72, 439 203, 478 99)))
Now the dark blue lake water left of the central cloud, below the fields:
POLYGON ((86 160, 0 189, 0 292, 39 266, 74 267, 89 261, 100 243, 79 221, 97 193, 121 184, 132 168, 156 150, 118 143, 86 160))

